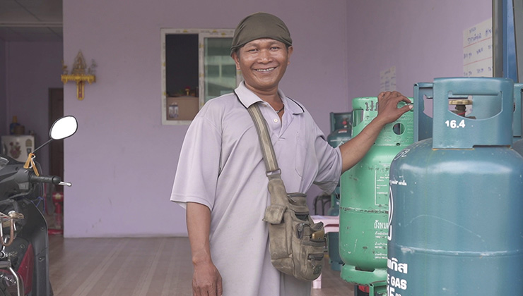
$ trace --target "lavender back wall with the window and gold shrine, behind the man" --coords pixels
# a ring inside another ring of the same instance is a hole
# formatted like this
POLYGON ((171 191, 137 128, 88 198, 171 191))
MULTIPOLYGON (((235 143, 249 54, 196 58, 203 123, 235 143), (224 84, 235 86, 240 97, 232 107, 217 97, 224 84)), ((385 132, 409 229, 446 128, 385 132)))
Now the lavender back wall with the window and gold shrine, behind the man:
POLYGON ((66 237, 187 235, 169 202, 187 126, 161 125, 160 28, 234 28, 257 11, 286 21, 295 50, 281 86, 328 132, 329 112, 348 110, 345 0, 64 1, 64 60, 81 49, 98 63, 86 99, 64 88, 79 122, 64 142, 66 237))

